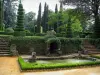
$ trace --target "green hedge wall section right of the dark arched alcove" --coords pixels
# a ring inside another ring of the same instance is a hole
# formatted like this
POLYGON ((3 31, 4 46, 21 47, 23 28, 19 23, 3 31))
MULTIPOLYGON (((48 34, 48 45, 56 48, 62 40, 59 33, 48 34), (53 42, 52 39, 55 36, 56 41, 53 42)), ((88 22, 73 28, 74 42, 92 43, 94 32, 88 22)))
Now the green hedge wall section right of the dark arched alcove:
POLYGON ((59 37, 61 41, 61 50, 63 50, 63 54, 67 53, 75 53, 81 49, 82 40, 83 39, 76 39, 76 38, 62 38, 59 37))

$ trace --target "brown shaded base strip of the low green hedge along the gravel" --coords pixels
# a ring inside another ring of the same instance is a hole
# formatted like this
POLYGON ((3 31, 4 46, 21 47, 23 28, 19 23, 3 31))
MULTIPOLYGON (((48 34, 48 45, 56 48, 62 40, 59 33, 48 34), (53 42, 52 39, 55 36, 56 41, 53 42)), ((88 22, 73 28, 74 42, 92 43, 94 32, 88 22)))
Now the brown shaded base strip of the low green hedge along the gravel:
POLYGON ((49 69, 27 69, 27 70, 23 70, 22 69, 22 66, 21 66, 21 63, 19 61, 19 58, 18 58, 18 63, 19 63, 19 66, 20 66, 20 70, 21 72, 42 72, 42 71, 57 71, 57 70, 66 70, 66 69, 76 69, 76 68, 88 68, 88 67, 94 67, 94 66, 100 66, 100 61, 99 62, 91 62, 92 64, 80 64, 78 66, 70 66, 70 67, 64 67, 64 68, 49 68, 49 69))

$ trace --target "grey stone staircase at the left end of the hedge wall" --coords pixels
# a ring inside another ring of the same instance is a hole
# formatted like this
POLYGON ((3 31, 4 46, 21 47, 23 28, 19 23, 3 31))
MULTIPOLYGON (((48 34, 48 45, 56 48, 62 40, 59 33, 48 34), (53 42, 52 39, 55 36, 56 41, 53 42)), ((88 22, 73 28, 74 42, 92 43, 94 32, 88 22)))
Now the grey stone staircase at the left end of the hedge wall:
POLYGON ((0 36, 0 56, 10 56, 9 40, 0 36))

